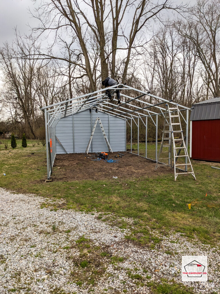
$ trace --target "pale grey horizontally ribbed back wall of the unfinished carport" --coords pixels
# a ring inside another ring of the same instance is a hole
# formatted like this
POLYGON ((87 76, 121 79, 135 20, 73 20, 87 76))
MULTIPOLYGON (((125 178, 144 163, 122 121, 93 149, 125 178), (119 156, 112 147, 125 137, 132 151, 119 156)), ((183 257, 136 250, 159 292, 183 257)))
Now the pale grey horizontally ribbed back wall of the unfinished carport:
MULTIPOLYGON (((89 138, 91 136, 91 132, 97 117, 101 119, 112 151, 126 151, 126 121, 122 118, 111 116, 101 111, 98 111, 98 113, 96 113, 94 109, 92 109, 92 113, 90 114, 88 109, 74 115, 61 118, 60 121, 57 123, 56 136, 68 153, 84 153, 86 151, 87 145, 89 143, 89 138), (74 126, 72 124, 72 118, 74 126), (65 140, 67 140, 67 142, 65 142, 65 140)), ((65 153, 57 140, 56 147, 58 154, 65 153)), ((102 134, 100 125, 99 123, 97 123, 89 152, 102 151, 108 152, 109 150, 102 134)))

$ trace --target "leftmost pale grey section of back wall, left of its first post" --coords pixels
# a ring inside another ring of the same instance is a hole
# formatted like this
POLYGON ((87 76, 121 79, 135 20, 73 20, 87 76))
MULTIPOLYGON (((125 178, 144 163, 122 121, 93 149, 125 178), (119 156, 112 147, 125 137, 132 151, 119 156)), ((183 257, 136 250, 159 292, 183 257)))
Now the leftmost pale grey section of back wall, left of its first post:
MULTIPOLYGON (((74 152, 72 115, 65 116, 59 120, 56 125, 56 136, 67 151, 67 153, 74 152)), ((65 154, 66 152, 62 148, 60 143, 56 140, 56 153, 65 154)))

